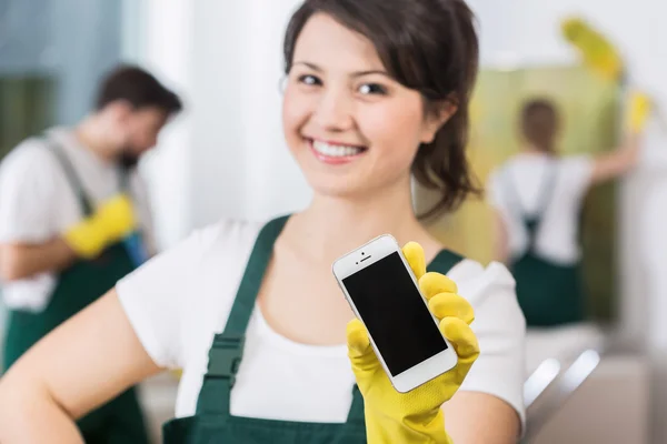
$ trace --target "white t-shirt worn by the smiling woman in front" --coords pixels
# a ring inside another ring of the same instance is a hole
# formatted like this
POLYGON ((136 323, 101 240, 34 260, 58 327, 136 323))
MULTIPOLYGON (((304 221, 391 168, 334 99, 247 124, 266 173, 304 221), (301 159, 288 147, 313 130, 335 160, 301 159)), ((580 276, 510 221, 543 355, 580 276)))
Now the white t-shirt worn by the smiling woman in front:
MULTIPOLYGON (((261 225, 221 222, 191 234, 121 280, 116 290, 143 347, 180 367, 176 416, 193 415, 208 351, 222 332, 261 225)), ((475 309, 481 354, 461 387, 506 401, 524 421, 525 320, 507 269, 465 260, 449 276, 475 309)), ((256 306, 231 393, 231 414, 296 422, 346 422, 355 376, 346 345, 296 343, 256 306)))

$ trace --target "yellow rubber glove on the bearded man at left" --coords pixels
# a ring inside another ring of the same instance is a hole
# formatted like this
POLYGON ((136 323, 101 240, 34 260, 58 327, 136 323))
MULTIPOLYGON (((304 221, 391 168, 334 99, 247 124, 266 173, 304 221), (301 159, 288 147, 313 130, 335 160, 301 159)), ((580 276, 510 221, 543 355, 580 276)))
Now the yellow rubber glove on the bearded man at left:
POLYGON ((90 218, 70 228, 63 239, 77 254, 91 259, 131 233, 135 226, 132 202, 127 195, 119 194, 102 203, 90 218))

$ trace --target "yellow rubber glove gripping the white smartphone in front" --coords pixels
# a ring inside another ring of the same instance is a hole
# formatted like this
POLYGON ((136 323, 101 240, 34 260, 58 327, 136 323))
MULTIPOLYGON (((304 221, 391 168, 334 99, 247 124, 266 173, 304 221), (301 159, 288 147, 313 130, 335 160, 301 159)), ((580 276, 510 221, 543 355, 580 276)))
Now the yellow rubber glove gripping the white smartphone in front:
POLYGON ((426 384, 399 393, 378 361, 361 321, 350 321, 348 352, 364 395, 367 441, 369 444, 451 443, 441 406, 454 396, 479 355, 477 337, 469 326, 475 314, 468 301, 457 294, 450 279, 426 273, 424 250, 418 243, 410 242, 402 251, 429 301, 429 310, 440 320, 440 331, 458 355, 458 363, 426 384))

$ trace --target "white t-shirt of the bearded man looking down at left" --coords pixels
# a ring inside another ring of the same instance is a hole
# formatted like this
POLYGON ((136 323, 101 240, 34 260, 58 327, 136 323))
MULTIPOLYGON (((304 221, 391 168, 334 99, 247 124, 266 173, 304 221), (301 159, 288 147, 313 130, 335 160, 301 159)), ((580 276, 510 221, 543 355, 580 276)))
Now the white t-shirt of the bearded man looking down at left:
MULTIPOLYGON (((98 204, 120 190, 116 165, 83 148, 71 130, 47 131, 67 155, 86 194, 98 204)), ((146 186, 138 174, 130 176, 130 191, 147 248, 155 251, 146 186)), ((58 158, 43 138, 31 138, 14 148, 0 164, 0 242, 46 242, 82 219, 79 199, 58 158)), ((41 273, 3 282, 4 304, 12 309, 41 311, 50 300, 57 275, 41 273)))

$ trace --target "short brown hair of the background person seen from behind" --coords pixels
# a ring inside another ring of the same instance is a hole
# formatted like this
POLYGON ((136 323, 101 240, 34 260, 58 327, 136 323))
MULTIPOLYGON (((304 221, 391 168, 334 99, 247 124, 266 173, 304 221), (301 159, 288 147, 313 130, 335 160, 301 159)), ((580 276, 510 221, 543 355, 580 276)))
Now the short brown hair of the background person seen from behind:
POLYGON ((521 132, 530 145, 552 153, 558 133, 558 110, 548 99, 531 99, 521 110, 521 132))

